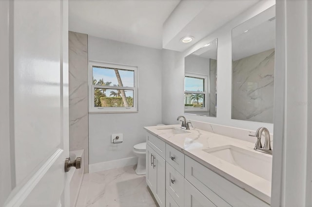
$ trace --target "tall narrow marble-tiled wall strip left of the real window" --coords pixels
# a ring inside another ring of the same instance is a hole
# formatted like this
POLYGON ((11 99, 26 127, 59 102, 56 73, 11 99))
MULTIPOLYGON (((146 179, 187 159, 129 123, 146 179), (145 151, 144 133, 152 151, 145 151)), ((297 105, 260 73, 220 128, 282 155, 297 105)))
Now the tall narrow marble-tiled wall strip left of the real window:
POLYGON ((88 35, 69 32, 69 150, 84 149, 89 172, 88 35))

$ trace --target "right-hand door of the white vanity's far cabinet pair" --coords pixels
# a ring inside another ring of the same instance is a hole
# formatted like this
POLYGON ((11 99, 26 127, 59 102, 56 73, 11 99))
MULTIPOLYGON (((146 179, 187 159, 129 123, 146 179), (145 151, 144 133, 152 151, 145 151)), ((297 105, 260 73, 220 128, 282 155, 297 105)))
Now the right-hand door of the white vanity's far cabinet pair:
POLYGON ((156 171, 156 193, 154 193, 158 205, 164 207, 166 205, 166 161, 157 153, 154 162, 156 171))

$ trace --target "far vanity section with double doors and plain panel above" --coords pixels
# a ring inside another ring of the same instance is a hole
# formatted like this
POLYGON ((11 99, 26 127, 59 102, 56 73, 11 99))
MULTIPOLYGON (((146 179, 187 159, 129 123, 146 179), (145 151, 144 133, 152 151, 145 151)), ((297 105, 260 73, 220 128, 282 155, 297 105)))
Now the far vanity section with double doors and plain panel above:
POLYGON ((163 146, 163 152, 165 152, 165 143, 160 139, 156 142, 148 142, 148 138, 153 135, 147 135, 146 144, 146 183, 150 187, 154 194, 154 197, 160 207, 165 207, 166 199, 166 161, 157 152, 161 152, 163 146), (162 144, 163 142, 163 144, 162 144), (159 144, 160 143, 160 144, 159 144), (150 146, 152 145, 152 146, 150 146), (156 149, 156 150, 155 150, 156 149))

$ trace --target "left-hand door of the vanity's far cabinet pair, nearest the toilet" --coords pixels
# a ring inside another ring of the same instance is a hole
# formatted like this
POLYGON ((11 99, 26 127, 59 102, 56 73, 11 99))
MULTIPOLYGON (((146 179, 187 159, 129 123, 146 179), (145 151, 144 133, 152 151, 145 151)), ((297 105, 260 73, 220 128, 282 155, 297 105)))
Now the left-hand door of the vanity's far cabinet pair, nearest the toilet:
POLYGON ((154 150, 147 144, 146 145, 146 183, 155 195, 156 192, 156 170, 153 165, 155 162, 154 150))

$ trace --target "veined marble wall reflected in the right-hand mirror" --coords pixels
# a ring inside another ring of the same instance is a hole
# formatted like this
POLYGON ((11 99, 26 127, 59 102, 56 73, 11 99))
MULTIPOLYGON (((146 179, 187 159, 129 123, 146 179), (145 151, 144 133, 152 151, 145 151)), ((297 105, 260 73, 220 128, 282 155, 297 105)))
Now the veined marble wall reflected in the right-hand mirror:
POLYGON ((274 49, 233 62, 232 119, 273 123, 274 49))

